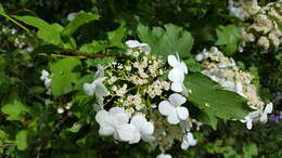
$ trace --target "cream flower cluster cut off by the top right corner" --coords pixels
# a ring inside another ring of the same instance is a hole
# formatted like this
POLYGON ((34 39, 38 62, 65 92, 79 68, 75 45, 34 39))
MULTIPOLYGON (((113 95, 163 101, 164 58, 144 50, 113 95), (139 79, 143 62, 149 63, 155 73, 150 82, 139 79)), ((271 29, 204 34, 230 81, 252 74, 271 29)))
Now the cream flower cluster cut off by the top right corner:
POLYGON ((256 0, 252 2, 242 0, 234 6, 231 0, 229 4, 230 13, 246 22, 241 51, 248 42, 256 42, 265 50, 281 44, 282 31, 278 23, 282 22, 282 2, 270 2, 266 6, 259 6, 256 0))

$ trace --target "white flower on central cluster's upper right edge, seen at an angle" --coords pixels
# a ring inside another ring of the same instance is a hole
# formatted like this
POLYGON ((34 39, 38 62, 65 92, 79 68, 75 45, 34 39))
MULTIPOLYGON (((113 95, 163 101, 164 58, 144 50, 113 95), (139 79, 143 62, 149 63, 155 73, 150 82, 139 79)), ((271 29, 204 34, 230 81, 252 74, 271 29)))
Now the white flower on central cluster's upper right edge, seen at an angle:
POLYGON ((168 73, 168 79, 172 81, 171 90, 175 92, 182 92, 185 90, 185 87, 183 84, 184 76, 188 74, 188 68, 184 62, 181 62, 178 54, 175 55, 168 55, 167 57, 168 64, 174 67, 168 73))

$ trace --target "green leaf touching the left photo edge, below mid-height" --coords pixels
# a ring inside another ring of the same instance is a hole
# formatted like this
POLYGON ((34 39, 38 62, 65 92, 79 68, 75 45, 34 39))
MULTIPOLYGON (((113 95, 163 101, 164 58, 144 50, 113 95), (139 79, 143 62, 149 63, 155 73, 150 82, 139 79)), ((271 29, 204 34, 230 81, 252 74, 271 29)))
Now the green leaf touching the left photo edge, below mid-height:
POLYGON ((16 98, 5 104, 1 110, 8 115, 8 120, 22 120, 29 111, 28 108, 16 98))

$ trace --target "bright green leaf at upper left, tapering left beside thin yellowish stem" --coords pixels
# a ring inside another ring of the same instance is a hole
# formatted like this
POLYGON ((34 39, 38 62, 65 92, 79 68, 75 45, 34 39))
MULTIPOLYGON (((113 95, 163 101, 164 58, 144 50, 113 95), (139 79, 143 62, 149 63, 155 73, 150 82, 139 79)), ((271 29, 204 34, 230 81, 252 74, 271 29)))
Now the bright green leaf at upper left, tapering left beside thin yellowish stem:
POLYGON ((13 16, 18 21, 22 21, 28 25, 31 25, 38 28, 37 36, 47 43, 52 43, 59 45, 62 42, 60 32, 63 30, 63 27, 59 24, 48 24, 43 19, 35 16, 13 16))

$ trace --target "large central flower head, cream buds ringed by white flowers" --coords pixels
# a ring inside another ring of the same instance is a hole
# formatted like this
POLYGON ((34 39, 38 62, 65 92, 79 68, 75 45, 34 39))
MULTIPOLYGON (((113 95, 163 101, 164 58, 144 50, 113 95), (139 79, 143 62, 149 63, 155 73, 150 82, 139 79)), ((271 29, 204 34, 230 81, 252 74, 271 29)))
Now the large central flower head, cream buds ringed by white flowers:
POLYGON ((169 55, 169 68, 166 61, 150 53, 148 44, 136 40, 126 44, 126 58, 117 58, 106 68, 99 66, 94 80, 84 84, 86 94, 97 98, 99 133, 129 144, 143 140, 163 153, 175 140, 182 142, 182 149, 196 145, 191 129, 197 121, 189 118, 183 106, 189 92, 183 83, 188 74, 184 62, 178 54, 169 55))

